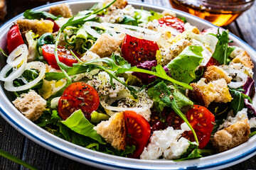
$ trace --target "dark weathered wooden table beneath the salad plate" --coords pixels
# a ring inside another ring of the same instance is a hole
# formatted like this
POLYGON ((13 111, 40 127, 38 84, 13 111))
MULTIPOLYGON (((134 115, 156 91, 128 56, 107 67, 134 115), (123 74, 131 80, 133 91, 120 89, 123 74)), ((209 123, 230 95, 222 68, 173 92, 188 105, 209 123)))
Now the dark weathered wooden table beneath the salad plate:
MULTIPOLYGON (((34 8, 46 4, 43 0, 7 0, 8 15, 5 21, 1 21, 0 25, 13 18, 26 9, 34 8)), ((52 0, 54 1, 54 0, 52 0)), ((58 1, 58 0, 55 0, 58 1)), ((140 0, 137 0, 140 1, 140 0)), ((157 4, 159 6, 171 7, 169 0, 142 0, 145 3, 157 4)), ((238 35, 242 40, 245 40, 249 45, 256 49, 256 4, 250 10, 231 23, 227 28, 238 35)), ((71 159, 62 157, 54 152, 49 151, 37 145, 35 142, 28 140, 27 137, 21 135, 6 121, 0 117, 0 149, 14 154, 16 157, 23 159, 25 162, 32 164, 37 169, 96 169, 95 167, 87 166, 71 159)), ((248 159, 245 162, 231 166, 228 169, 256 169, 256 156, 248 159)), ((0 157, 0 169, 25 169, 24 167, 14 162, 0 157)))

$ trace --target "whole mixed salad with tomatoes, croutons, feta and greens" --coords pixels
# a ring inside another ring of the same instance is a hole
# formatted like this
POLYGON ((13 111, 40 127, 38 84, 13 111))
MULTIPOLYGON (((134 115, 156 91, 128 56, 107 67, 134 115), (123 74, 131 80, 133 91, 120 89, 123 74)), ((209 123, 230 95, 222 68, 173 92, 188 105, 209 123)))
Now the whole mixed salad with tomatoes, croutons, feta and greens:
POLYGON ((228 30, 106 0, 28 10, 0 80, 14 106, 75 145, 136 159, 218 154, 255 134, 254 64, 228 30))

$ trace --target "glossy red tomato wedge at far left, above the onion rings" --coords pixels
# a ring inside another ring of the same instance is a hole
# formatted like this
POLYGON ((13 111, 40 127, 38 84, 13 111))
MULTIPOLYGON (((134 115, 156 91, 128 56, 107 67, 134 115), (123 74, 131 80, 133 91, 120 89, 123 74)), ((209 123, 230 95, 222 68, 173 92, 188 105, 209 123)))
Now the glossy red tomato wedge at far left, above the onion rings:
POLYGON ((7 33, 7 48, 9 54, 16 49, 19 45, 23 45, 24 41, 21 36, 21 32, 18 28, 18 25, 11 27, 9 32, 7 33))

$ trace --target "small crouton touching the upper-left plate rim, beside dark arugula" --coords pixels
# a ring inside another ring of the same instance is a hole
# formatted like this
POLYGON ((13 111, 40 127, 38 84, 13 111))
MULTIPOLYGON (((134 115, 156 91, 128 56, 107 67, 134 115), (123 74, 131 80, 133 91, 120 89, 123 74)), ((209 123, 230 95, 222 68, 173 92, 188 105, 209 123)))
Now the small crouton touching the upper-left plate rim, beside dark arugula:
POLYGON ((71 18, 73 16, 70 7, 65 3, 51 7, 49 13, 54 16, 63 16, 64 18, 71 18))

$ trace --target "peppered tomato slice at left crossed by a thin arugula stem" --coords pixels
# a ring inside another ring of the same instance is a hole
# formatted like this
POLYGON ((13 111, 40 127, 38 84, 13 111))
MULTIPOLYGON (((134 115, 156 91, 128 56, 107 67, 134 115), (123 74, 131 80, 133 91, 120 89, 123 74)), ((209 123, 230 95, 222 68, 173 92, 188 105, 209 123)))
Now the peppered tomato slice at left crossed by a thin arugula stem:
MULTIPOLYGON (((43 50, 43 58, 48 62, 53 68, 55 69, 60 69, 58 67, 57 61, 54 56, 54 48, 55 45, 43 45, 42 50, 43 50)), ((71 52, 63 46, 58 46, 57 47, 58 51, 58 58, 60 62, 63 62, 64 64, 72 67, 73 63, 78 62, 76 58, 71 54, 71 52)), ((75 52, 74 52, 75 53, 75 52)), ((75 53, 78 57, 80 57, 77 53, 75 53)))

